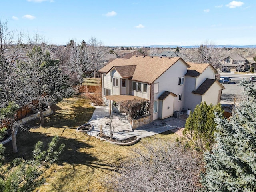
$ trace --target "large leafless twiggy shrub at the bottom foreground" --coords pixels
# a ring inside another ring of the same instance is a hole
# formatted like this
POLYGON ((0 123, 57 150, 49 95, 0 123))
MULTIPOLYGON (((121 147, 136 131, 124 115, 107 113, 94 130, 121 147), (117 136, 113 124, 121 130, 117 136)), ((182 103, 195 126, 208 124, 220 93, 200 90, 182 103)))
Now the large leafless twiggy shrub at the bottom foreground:
POLYGON ((157 141, 135 149, 107 184, 115 192, 195 192, 200 190, 201 168, 198 153, 157 141))

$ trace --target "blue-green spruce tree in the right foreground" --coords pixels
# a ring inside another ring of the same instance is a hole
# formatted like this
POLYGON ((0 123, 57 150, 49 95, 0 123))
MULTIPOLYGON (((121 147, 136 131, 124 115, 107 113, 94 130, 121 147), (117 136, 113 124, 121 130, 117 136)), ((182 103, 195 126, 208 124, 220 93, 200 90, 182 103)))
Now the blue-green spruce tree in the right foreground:
POLYGON ((216 146, 206 152, 207 192, 256 190, 256 86, 242 80, 244 98, 229 119, 216 115, 216 146))

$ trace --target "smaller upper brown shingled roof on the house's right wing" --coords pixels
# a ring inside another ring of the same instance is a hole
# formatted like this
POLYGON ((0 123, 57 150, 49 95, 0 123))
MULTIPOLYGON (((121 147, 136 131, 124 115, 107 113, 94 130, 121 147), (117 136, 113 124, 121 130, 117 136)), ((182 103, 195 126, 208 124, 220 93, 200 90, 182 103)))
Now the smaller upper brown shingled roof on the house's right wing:
POLYGON ((188 68, 188 72, 185 74, 185 76, 192 76, 192 77, 198 77, 208 66, 210 66, 214 72, 217 74, 218 72, 214 67, 209 63, 190 63, 188 62, 190 67, 188 68))

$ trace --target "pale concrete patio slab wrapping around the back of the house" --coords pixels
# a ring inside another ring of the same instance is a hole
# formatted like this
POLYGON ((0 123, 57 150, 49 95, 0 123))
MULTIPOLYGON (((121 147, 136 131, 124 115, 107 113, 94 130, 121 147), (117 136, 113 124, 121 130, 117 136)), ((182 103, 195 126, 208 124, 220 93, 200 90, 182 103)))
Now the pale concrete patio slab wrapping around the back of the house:
MULTIPOLYGON (((93 106, 93 105, 92 105, 93 106)), ((116 114, 112 112, 112 117, 109 116, 109 107, 108 106, 94 106, 96 109, 92 115, 92 118, 88 123, 94 126, 94 129, 91 132, 88 132, 88 135, 96 136, 100 133, 100 126, 104 134, 110 135, 110 120, 112 121, 112 126, 114 126, 113 136, 118 139, 125 139, 132 136, 149 137, 155 134, 159 134, 168 130, 173 131, 174 133, 182 136, 182 130, 185 127, 186 114, 182 115, 180 118, 169 117, 164 120, 155 120, 150 124, 141 126, 129 132, 130 130, 130 121, 127 116, 116 114), (127 130, 124 132, 119 132, 119 130, 127 130)))

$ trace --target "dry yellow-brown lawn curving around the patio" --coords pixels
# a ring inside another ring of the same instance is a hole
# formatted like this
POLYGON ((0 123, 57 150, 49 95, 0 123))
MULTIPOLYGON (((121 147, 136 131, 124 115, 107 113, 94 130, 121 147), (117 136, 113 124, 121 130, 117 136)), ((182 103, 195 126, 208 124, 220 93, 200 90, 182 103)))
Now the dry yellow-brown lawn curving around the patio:
POLYGON ((66 145, 58 162, 44 173, 46 183, 36 191, 40 192, 104 192, 108 191, 104 180, 110 178, 113 166, 130 156, 133 148, 158 139, 173 142, 177 137, 171 131, 143 138, 134 146, 116 146, 98 140, 87 134, 76 132, 76 128, 90 120, 94 108, 90 101, 81 96, 64 99, 52 107, 54 114, 45 118, 46 125, 39 126, 40 120, 29 122, 27 131, 19 131, 17 144, 19 152, 12 154, 11 142, 6 144, 6 160, 15 157, 32 158, 32 150, 38 140, 50 142, 58 135, 60 143, 66 145))

